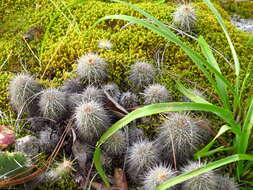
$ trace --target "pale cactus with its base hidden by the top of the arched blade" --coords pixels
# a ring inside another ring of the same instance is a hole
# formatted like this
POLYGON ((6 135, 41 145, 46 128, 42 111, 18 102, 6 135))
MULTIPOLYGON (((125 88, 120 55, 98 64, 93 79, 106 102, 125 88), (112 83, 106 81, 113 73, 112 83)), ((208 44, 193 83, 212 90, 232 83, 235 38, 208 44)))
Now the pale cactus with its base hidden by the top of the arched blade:
POLYGON ((144 104, 157 104, 171 100, 171 95, 166 87, 160 84, 149 85, 145 88, 143 95, 144 104))

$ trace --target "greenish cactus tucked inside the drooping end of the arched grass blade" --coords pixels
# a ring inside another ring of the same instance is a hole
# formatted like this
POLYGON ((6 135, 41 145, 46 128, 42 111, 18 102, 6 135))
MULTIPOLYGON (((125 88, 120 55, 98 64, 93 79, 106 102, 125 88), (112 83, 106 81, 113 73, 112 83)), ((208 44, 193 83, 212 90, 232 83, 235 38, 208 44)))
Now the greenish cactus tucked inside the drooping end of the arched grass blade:
POLYGON ((122 155, 127 147, 126 136, 123 131, 117 131, 102 145, 102 150, 109 156, 122 155))

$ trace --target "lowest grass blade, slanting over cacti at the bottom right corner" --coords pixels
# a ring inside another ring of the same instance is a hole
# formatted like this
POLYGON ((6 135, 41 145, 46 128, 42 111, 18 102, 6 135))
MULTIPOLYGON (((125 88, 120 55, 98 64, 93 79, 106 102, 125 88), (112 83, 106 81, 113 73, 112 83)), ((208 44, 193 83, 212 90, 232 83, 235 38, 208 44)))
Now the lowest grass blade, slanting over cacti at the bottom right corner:
POLYGON ((183 181, 191 179, 191 178, 193 178, 197 175, 203 174, 205 172, 214 170, 214 169, 219 168, 221 166, 230 164, 232 162, 240 161, 240 160, 253 160, 253 156, 247 155, 247 154, 235 154, 235 155, 223 158, 221 160, 211 162, 211 163, 209 163, 209 164, 207 164, 207 165, 205 165, 201 168, 198 168, 198 169, 193 170, 193 171, 188 172, 188 173, 181 174, 181 175, 179 175, 175 178, 172 178, 172 179, 168 180, 164 184, 158 186, 156 188, 156 190, 166 190, 169 187, 172 187, 172 186, 174 186, 176 184, 179 184, 183 181))

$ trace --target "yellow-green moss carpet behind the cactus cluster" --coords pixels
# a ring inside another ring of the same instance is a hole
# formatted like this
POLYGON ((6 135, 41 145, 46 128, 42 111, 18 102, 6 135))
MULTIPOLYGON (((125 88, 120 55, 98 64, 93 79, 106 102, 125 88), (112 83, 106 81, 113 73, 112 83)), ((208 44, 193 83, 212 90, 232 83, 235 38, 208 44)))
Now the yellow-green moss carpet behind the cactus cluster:
MULTIPOLYGON (((58 3, 55 7, 51 1, 45 1, 43 4, 39 1, 27 1, 24 4, 12 4, 12 1, 8 1, 6 7, 1 8, 4 17, 1 24, 2 31, 0 31, 0 63, 7 60, 3 69, 18 72, 25 68, 38 77, 42 77, 45 72, 44 79, 61 83, 64 78, 69 76, 68 72, 75 68, 76 60, 81 55, 87 52, 98 52, 109 63, 110 78, 113 78, 114 82, 124 89, 127 87, 124 79, 128 74, 130 65, 136 60, 148 60, 154 63, 155 53, 159 48, 166 47, 166 56, 160 65, 162 72, 159 76, 159 82, 165 84, 169 90, 175 91, 170 73, 191 72, 192 75, 188 76, 189 79, 198 82, 203 88, 209 87, 204 82, 203 75, 197 72, 196 66, 192 64, 182 50, 171 43, 168 44, 166 40, 153 32, 137 25, 128 26, 121 30, 120 28, 126 22, 117 20, 106 21, 96 28, 91 27, 95 21, 105 15, 126 14, 141 17, 139 13, 118 3, 111 6, 111 3, 101 1, 87 1, 64 12, 57 12, 57 9, 63 9, 65 5, 72 2, 69 0, 65 1, 64 4, 58 3), (55 14, 59 16, 55 17, 55 14), (49 22, 52 23, 50 28, 48 28, 49 22), (48 32, 43 37, 41 36, 38 41, 33 40, 27 44, 41 63, 21 38, 31 27, 38 25, 42 26, 44 30, 48 29, 48 32), (114 46, 113 51, 99 49, 97 43, 101 39, 111 40, 114 46)), ((138 6, 168 24, 171 23, 171 14, 177 7, 174 3, 160 5, 139 3, 138 6)), ((227 42, 214 16, 204 3, 196 3, 195 6, 198 23, 194 33, 202 35, 213 48, 231 61, 227 42), (212 23, 212 27, 207 28, 206 26, 209 23, 212 23)), ((220 7, 218 10, 222 17, 228 21, 227 13, 220 7)), ((236 31, 228 22, 226 24, 240 57, 242 71, 244 71, 247 64, 253 59, 250 56, 245 56, 253 50, 252 47, 245 47, 244 44, 249 39, 249 35, 236 31)), ((187 45, 199 51, 196 41, 187 37, 180 37, 180 39, 184 39, 187 45)), ((162 52, 160 52, 160 56, 161 54, 162 52)), ((232 70, 229 64, 224 63, 222 57, 216 57, 221 70, 226 76, 231 76, 232 70)), ((6 104, 6 100, 5 102, 4 100, 1 101, 3 101, 1 104, 6 104)))

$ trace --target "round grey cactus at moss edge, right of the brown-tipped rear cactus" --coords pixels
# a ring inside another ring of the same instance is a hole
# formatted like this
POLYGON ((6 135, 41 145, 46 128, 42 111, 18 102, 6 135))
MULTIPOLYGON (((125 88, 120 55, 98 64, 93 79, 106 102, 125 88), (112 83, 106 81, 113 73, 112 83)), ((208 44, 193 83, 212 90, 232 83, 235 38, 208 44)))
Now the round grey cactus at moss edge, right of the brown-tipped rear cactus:
POLYGON ((155 69, 152 65, 144 61, 138 61, 130 68, 128 80, 134 88, 142 89, 155 81, 155 69))

